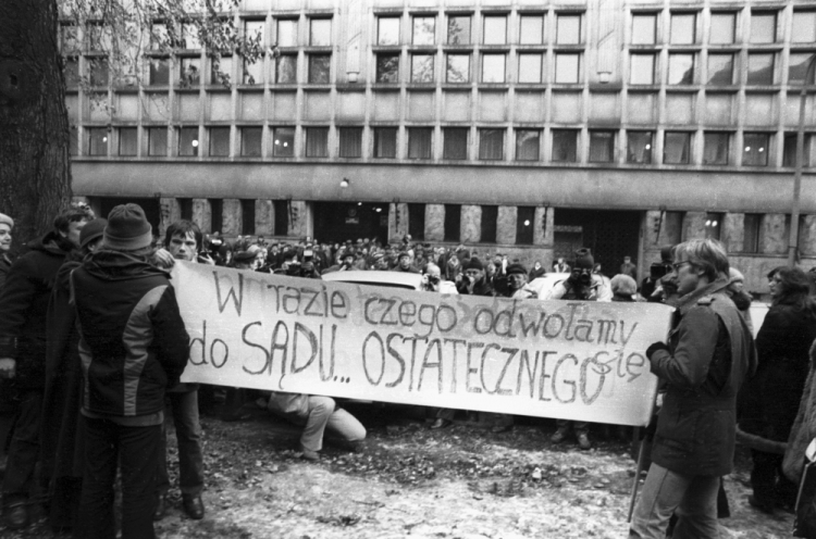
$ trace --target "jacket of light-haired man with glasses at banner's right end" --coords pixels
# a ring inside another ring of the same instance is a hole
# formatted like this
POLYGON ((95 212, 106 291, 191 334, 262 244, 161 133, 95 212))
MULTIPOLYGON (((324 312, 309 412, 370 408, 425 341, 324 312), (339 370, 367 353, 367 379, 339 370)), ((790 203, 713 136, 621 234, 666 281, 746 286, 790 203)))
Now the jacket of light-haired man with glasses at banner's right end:
POLYGON ((718 279, 681 298, 669 350, 650 358, 652 372, 668 387, 652 462, 683 475, 731 472, 737 393, 756 368, 753 339, 726 286, 718 279))

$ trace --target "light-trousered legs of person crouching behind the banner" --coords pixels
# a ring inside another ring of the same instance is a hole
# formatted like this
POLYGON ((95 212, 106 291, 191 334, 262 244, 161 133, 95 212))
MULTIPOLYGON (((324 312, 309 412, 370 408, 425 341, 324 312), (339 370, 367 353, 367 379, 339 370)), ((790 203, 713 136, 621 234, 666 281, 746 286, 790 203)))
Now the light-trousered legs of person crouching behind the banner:
POLYGON ((267 410, 304 427, 300 451, 307 461, 320 460, 326 428, 351 451, 359 451, 366 439, 366 427, 331 397, 272 391, 267 410))

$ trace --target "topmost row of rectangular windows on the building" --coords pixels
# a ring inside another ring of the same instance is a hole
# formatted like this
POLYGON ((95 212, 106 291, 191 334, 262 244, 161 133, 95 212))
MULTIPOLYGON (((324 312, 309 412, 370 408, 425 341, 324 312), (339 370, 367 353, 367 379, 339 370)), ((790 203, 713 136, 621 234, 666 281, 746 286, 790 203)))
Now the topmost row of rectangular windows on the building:
MULTIPOLYGON (((732 45, 740 37, 739 17, 741 11, 712 11, 707 15, 708 43, 732 45)), ((702 17, 697 11, 671 11, 668 28, 664 29, 663 16, 659 11, 631 13, 630 39, 631 45, 695 45, 701 41, 702 17)), ((750 12, 749 35, 744 41, 752 45, 775 43, 779 41, 779 11, 769 9, 752 9, 750 12)), ((479 36, 473 32, 475 15, 449 13, 446 15, 447 27, 445 35, 436 32, 436 16, 417 14, 411 16, 410 36, 403 30, 401 17, 395 15, 376 16, 376 30, 373 43, 376 46, 399 46, 409 42, 416 47, 434 46, 444 39, 446 45, 473 45, 479 36)), ((582 35, 582 18, 580 12, 560 12, 555 14, 556 45, 580 45, 584 42, 582 35)), ((481 17, 482 45, 509 45, 508 26, 511 18, 507 13, 483 13, 481 17)), ((816 11, 796 10, 791 22, 791 41, 798 43, 816 42, 816 11)), ((265 20, 246 18, 243 22, 244 36, 260 38, 261 45, 274 42, 280 48, 298 47, 301 42, 311 47, 329 47, 332 45, 332 18, 309 17, 308 36, 300 39, 298 35, 298 18, 274 18, 274 36, 268 39, 265 20)), ((152 25, 151 36, 154 47, 166 42, 166 23, 157 22, 152 25)), ((547 42, 546 14, 518 14, 518 33, 515 36, 518 45, 544 45, 547 42)), ((104 30, 96 25, 88 25, 85 47, 88 50, 104 49, 104 30)), ((196 50, 201 48, 198 30, 195 24, 182 25, 178 38, 180 49, 196 50)), ((76 26, 63 25, 61 45, 63 52, 79 49, 79 36, 76 26)))

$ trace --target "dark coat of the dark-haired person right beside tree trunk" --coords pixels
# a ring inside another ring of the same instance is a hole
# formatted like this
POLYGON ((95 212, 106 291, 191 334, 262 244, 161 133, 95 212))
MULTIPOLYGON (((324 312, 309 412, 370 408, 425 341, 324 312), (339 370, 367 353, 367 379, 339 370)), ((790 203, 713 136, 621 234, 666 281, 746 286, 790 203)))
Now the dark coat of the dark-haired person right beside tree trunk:
POLYGON ((58 233, 32 242, 0 291, 0 358, 16 360, 21 389, 46 386, 46 314, 57 272, 72 245, 58 233))

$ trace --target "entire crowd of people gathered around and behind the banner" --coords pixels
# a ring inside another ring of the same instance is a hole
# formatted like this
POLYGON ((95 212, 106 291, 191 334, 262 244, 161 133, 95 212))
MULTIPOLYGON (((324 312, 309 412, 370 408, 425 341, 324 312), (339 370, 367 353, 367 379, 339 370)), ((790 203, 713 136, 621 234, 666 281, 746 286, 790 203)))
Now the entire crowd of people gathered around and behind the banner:
MULTIPOLYGON (((732 469, 738 437, 752 448, 751 505, 765 513, 794 509, 804 448, 816 438, 816 303, 813 274, 800 268, 768 274, 771 306, 754 341, 744 278, 710 239, 665 248, 640 285, 629 256, 608 278, 592 252, 579 249, 553 264, 565 277, 540 288, 536 279, 547 273, 541 262, 528 268, 500 253, 432 247, 410 236, 388 245, 230 241, 180 221, 157 238, 136 204, 114 208, 107 220, 75 204, 12 258, 13 227, 0 214, 2 514, 10 528, 26 527, 32 506, 42 503, 55 531, 116 537, 119 471, 122 537, 154 537, 171 482, 170 418, 182 509, 190 518, 205 516, 200 388, 180 383, 189 336, 168 272, 175 261, 318 279, 355 270, 407 272, 421 274, 422 288, 437 293, 664 302, 675 314, 666 341, 646 350, 662 397, 646 429, 651 466, 630 537, 717 537, 716 519, 728 509, 721 478, 732 469)), ((225 399, 235 413, 246 396, 228 388, 225 399)), ((258 403, 302 427, 307 460, 320 457, 326 429, 351 450, 367 435, 329 397, 267 391, 258 403)), ((455 416, 441 409, 431 428, 455 416)), ((492 423, 500 433, 514 417, 493 414, 492 423)), ((551 439, 559 443, 570 434, 581 449, 592 447, 582 422, 559 419, 551 439)))

